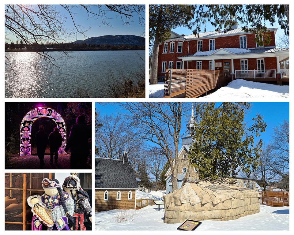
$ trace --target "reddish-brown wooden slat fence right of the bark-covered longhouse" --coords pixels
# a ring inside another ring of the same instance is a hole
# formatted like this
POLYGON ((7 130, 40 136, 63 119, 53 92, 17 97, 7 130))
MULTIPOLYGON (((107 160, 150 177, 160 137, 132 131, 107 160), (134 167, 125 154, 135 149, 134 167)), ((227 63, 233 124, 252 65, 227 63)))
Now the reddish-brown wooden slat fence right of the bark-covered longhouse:
POLYGON ((271 207, 284 207, 290 205, 290 192, 288 191, 262 191, 259 194, 259 202, 262 205, 267 205, 271 207))

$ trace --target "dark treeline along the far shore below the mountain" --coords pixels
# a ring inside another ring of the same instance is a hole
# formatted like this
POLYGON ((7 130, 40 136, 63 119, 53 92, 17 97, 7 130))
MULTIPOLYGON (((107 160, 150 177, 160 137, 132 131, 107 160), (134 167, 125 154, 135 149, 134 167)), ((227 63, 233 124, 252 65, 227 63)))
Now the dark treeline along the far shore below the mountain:
POLYGON ((145 46, 137 45, 109 45, 109 44, 86 44, 86 43, 49 43, 25 45, 22 43, 5 43, 5 51, 80 51, 80 50, 145 50, 145 46))

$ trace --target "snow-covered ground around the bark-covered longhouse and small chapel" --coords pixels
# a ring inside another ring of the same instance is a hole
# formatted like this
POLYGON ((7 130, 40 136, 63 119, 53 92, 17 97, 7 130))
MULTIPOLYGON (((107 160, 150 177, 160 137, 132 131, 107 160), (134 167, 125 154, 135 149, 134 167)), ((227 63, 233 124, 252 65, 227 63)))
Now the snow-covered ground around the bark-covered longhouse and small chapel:
MULTIPOLYGON (((162 199, 165 191, 136 192, 137 199, 162 199)), ((290 207, 260 205, 260 212, 230 221, 202 221, 197 230, 289 230, 290 207)), ((95 213, 95 230, 176 230, 181 223, 165 224, 164 206, 148 206, 140 210, 111 210, 95 213), (128 220, 118 223, 117 220, 128 220)))

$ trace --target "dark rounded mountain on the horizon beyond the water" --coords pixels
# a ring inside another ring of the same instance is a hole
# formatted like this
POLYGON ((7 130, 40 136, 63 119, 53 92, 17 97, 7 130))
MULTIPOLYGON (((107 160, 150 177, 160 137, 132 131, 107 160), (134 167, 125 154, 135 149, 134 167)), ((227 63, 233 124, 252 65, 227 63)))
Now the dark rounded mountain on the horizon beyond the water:
POLYGON ((135 35, 104 35, 100 37, 92 37, 85 40, 77 40, 73 43, 86 44, 109 44, 109 45, 137 45, 145 46, 145 38, 135 35))

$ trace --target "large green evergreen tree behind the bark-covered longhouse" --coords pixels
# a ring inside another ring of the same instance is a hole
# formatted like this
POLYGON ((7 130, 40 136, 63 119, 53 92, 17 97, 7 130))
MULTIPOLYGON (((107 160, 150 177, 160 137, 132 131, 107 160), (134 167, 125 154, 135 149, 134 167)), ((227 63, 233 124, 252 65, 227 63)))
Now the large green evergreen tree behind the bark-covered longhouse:
POLYGON ((252 125, 245 123, 249 108, 249 103, 198 105, 189 158, 200 179, 236 177, 240 171, 249 177, 257 168, 262 140, 254 146, 254 136, 265 131, 266 123, 259 114, 252 125))

